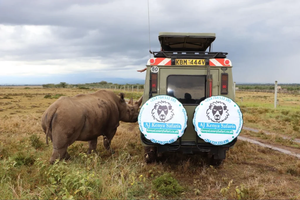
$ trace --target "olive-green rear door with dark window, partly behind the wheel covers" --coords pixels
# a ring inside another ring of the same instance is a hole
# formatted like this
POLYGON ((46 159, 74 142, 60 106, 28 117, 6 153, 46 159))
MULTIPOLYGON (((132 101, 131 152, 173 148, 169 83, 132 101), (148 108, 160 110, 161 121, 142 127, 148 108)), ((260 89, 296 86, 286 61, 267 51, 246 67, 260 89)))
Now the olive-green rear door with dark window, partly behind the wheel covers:
MULTIPOLYGON (((205 99, 205 67, 160 67, 159 94, 177 98, 187 111, 187 128, 182 140, 195 140, 193 113, 199 102, 205 99)), ((219 69, 210 69, 212 78, 212 96, 218 95, 219 69)))

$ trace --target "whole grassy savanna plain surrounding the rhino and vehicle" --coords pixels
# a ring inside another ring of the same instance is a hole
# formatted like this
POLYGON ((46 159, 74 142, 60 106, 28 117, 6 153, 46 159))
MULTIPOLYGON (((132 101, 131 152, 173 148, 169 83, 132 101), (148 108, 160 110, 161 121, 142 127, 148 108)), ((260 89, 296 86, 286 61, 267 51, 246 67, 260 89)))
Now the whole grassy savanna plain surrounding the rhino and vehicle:
MULTIPOLYGON (((93 89, 0 88, 0 199, 300 199, 300 161, 238 139, 220 166, 201 155, 166 154, 146 164, 137 123, 121 123, 111 146, 86 155, 87 142, 68 148, 70 160, 48 164, 41 116, 60 96, 93 89)), ((116 91, 118 94, 120 91, 116 91)), ((137 100, 142 93, 128 93, 137 100)), ((237 92, 240 136, 300 153, 300 96, 237 92), (243 100, 241 101, 241 97, 243 100)))

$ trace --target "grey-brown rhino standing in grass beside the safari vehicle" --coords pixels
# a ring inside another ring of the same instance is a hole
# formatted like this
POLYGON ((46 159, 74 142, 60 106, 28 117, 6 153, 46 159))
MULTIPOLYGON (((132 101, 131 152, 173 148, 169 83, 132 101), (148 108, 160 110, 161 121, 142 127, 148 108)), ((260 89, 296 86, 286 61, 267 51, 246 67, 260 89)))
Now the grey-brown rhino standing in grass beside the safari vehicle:
POLYGON ((125 102, 124 93, 118 97, 112 91, 98 90, 91 94, 77 94, 74 97, 60 97, 44 112, 42 128, 52 141, 50 163, 56 159, 70 158, 67 148, 75 141, 88 141, 88 154, 96 150, 97 139, 103 136, 107 151, 119 127, 119 121, 137 122, 143 96, 135 103, 125 102))

